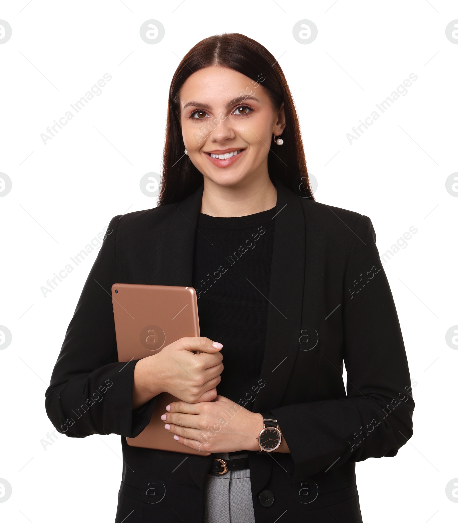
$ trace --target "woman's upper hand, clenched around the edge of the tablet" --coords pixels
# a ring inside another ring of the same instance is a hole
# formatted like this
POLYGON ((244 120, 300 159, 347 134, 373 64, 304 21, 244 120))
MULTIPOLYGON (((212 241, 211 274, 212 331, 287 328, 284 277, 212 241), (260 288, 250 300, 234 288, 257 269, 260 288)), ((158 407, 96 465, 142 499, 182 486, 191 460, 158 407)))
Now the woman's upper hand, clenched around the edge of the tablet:
POLYGON ((222 347, 209 338, 180 338, 160 353, 139 360, 134 370, 133 410, 161 392, 187 403, 215 399, 223 371, 222 347), (200 350, 200 354, 194 352, 200 350))

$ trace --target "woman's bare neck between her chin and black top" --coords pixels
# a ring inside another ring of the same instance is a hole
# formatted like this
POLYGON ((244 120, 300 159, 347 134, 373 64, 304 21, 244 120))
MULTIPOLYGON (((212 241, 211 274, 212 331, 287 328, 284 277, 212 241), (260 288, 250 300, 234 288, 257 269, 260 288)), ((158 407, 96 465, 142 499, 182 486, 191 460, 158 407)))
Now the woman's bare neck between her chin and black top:
POLYGON ((277 189, 269 175, 239 184, 224 186, 203 179, 202 206, 200 212, 215 217, 235 217, 267 211, 277 203, 277 189))

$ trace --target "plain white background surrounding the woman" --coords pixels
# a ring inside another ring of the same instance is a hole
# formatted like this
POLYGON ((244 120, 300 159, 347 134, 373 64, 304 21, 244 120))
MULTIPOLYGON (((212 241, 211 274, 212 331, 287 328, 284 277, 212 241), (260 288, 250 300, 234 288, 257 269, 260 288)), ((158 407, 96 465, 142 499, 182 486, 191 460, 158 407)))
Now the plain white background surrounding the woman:
POLYGON ((445 37, 456 2, 23 0, 4 1, 0 18, 13 29, 0 45, 0 172, 13 181, 0 198, 0 324, 13 334, 0 351, 0 477, 13 488, 2 521, 115 518, 120 437, 51 442, 44 410, 97 249, 46 298, 40 287, 113 216, 156 206, 139 181, 161 169, 171 77, 195 43, 222 32, 244 33, 279 59, 316 199, 368 215, 381 254, 418 229, 384 265, 415 380, 414 436, 394 458, 358 463, 358 489, 365 523, 456 521, 458 504, 445 495, 458 477, 458 351, 445 343, 458 324, 458 198, 445 189, 458 171, 458 45, 445 37), (165 27, 155 45, 139 35, 148 19, 165 27), (318 28, 310 44, 292 36, 302 19, 318 28), (102 94, 44 145, 40 134, 105 73, 102 94), (350 145, 346 134, 411 73, 408 93, 350 145))

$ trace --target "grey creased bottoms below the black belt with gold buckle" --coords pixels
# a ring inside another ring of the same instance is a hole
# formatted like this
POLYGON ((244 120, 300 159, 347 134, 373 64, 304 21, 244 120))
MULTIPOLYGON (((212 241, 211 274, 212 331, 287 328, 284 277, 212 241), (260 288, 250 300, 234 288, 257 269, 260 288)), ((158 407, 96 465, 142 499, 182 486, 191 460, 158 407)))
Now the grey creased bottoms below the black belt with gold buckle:
MULTIPOLYGON (((247 456, 240 454, 237 458, 247 456)), ((225 452, 213 457, 229 459, 225 452)), ((207 474, 204 496, 204 523, 255 523, 249 469, 228 471, 221 476, 207 474)))

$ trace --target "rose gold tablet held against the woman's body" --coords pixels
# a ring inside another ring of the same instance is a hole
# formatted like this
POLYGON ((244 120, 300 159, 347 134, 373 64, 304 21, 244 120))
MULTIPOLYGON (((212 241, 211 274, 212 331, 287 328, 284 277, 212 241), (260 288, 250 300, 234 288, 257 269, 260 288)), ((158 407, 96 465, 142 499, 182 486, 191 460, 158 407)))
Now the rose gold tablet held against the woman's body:
MULTIPOLYGON (((115 283, 111 297, 119 361, 146 358, 177 339, 200 336, 197 294, 192 287, 115 283)), ((161 416, 173 401, 179 400, 166 392, 159 394, 150 424, 137 437, 126 438, 128 445, 208 456, 210 452, 181 445, 165 430, 161 416)))

